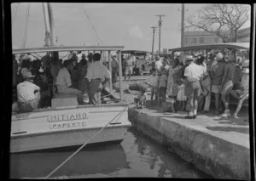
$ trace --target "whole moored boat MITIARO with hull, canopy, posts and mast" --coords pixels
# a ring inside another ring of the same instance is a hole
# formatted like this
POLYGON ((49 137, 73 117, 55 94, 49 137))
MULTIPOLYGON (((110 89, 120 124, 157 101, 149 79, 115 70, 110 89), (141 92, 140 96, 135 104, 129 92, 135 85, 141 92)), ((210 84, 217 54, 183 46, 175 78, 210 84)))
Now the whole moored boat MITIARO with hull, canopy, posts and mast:
MULTIPOLYGON (((43 8, 48 7, 49 19, 52 18, 50 3, 43 3, 43 8)), ((44 12, 44 20, 45 17, 44 12)), ((41 48, 14 48, 13 54, 34 54, 40 53, 55 54, 70 51, 99 52, 108 54, 108 63, 111 63, 111 52, 116 52, 119 59, 119 70, 121 65, 121 50, 123 46, 56 46, 52 37, 53 20, 50 25, 45 26, 46 32, 50 34, 50 45, 41 48), (50 28, 49 28, 49 27, 50 28)), ((57 56, 58 57, 58 56, 57 56)), ((109 68, 111 72, 111 66, 109 68)), ((121 71, 119 71, 121 72, 121 71)), ((119 84, 121 84, 119 74, 119 84)), ((120 86, 120 88, 122 88, 120 86)), ((112 80, 109 81, 109 95, 112 95, 112 80)), ((62 94, 63 95, 63 94, 62 94)), ((11 117, 10 153, 31 152, 35 150, 59 150, 64 147, 77 146, 87 143, 92 144, 113 144, 120 143, 125 138, 125 133, 131 123, 127 116, 127 102, 122 99, 122 91, 119 98, 106 99, 101 105, 78 105, 76 96, 55 97, 51 100, 55 106, 38 109, 26 113, 14 113, 11 117), (59 101, 59 100, 66 101, 59 101), (59 102, 58 102, 59 101, 59 102)), ((109 96, 108 96, 109 97, 109 96)), ((113 96, 112 96, 113 97, 113 96)), ((107 98, 107 97, 106 97, 107 98)))

